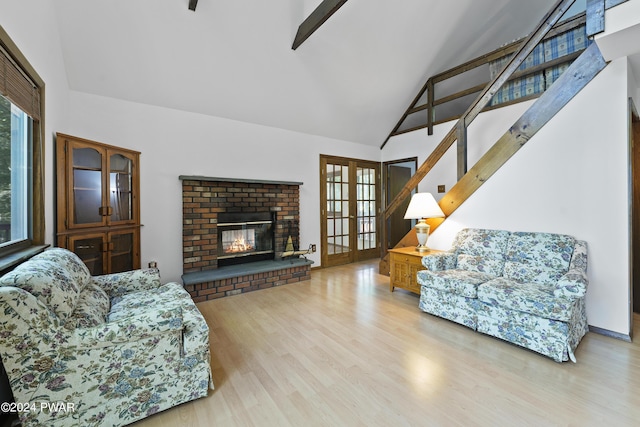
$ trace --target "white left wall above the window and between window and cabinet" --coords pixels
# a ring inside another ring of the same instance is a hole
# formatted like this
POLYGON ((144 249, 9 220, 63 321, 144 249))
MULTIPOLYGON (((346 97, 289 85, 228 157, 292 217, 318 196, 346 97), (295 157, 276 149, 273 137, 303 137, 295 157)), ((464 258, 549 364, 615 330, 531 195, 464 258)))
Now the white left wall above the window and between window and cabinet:
POLYGON ((3 0, 0 25, 45 82, 45 236, 54 243, 55 163, 53 134, 67 119, 68 85, 53 3, 3 0))

